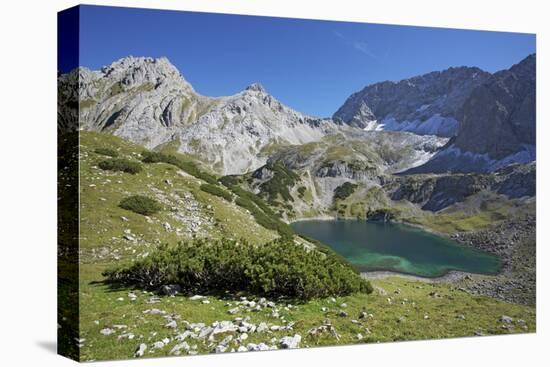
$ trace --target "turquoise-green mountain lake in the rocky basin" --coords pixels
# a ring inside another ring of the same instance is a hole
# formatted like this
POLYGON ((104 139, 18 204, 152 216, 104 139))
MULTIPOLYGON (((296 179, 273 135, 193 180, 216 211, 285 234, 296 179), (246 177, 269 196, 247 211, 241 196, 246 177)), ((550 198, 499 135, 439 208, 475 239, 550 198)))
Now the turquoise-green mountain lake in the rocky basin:
POLYGON ((297 233, 330 246, 361 271, 438 277, 449 270, 496 274, 500 269, 500 260, 492 254, 403 224, 309 220, 291 226, 297 233))

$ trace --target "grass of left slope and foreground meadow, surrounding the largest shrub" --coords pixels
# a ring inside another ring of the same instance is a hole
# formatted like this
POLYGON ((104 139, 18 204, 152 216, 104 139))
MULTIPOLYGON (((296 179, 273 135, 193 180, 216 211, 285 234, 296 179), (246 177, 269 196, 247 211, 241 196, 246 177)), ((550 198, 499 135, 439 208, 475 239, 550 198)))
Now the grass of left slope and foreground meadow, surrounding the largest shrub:
MULTIPOLYGON (((146 315, 143 311, 159 308, 168 313, 179 315, 181 320, 205 322, 231 320, 235 316, 250 316, 251 322, 261 321, 269 324, 282 324, 281 319, 273 318, 267 310, 244 312, 229 315, 227 302, 209 297, 210 304, 190 301, 186 297, 161 297, 157 304, 147 304, 151 296, 135 291, 137 299, 128 298, 128 289, 113 290, 101 283, 101 272, 116 264, 119 260, 131 260, 148 251, 159 242, 174 242, 184 239, 178 236, 175 228, 186 232, 186 226, 177 219, 178 215, 199 216, 207 222, 210 216, 215 221, 203 224, 197 235, 208 232, 210 236, 245 237, 250 241, 266 242, 276 236, 257 225, 252 217, 242 208, 228 204, 219 197, 199 190, 200 181, 186 175, 178 174, 178 169, 166 164, 144 165, 144 170, 137 175, 105 172, 94 168, 95 164, 105 157, 93 151, 98 147, 109 147, 117 150, 119 156, 138 159, 141 148, 122 140, 103 134, 82 133, 81 162, 81 338, 85 338, 81 348, 83 360, 130 358, 140 343, 148 344, 146 356, 167 355, 177 343, 171 340, 163 349, 152 352, 151 344, 164 337, 173 338, 173 330, 164 327, 165 319, 159 315, 146 315), (168 181, 167 181, 168 180, 168 181), (95 185, 95 186, 90 186, 95 185), (185 199, 190 195, 191 199, 185 199), (168 210, 153 215, 150 222, 141 215, 128 212, 118 207, 120 199, 133 194, 145 194, 164 201, 168 210), (178 204, 184 198, 185 204, 178 204), (195 207, 192 207, 193 204, 195 207), (180 207, 173 212, 172 207, 180 207), (181 207, 185 208, 181 208, 181 207), (190 211, 187 211, 189 209, 190 211), (121 217, 126 217, 124 221, 121 217), (172 231, 166 231, 163 223, 168 222, 172 231), (130 230, 135 241, 123 239, 125 230, 130 230), (97 323, 96 323, 97 321, 97 323), (126 325, 127 329, 118 330, 115 334, 104 336, 100 330, 113 325, 126 325), (133 340, 117 337, 123 332, 135 334, 133 340)), ((288 321, 295 321, 293 331, 250 334, 248 342, 270 343, 273 337, 300 334, 303 346, 349 344, 392 340, 411 340, 439 337, 472 336, 476 331, 484 334, 502 334, 535 330, 535 310, 533 307, 508 304, 495 299, 472 296, 449 285, 425 284, 405 279, 390 278, 375 280, 373 284, 382 293, 370 296, 355 295, 336 300, 322 299, 298 305, 285 310, 281 306, 280 314, 288 321), (396 294, 398 291, 399 294, 396 294), (436 292, 437 296, 430 296, 436 292), (391 298, 389 303, 388 298, 391 298), (345 311, 349 317, 339 317, 341 303, 347 303, 345 311), (321 311, 328 307, 329 312, 321 311), (366 321, 354 324, 352 319, 365 308, 372 314, 366 321), (498 318, 509 315, 526 321, 526 328, 512 324, 513 328, 502 328, 498 318), (428 318, 425 319, 424 315, 428 318), (464 319, 459 318, 463 315, 464 319), (404 317, 404 319, 401 319, 404 317), (307 331, 330 320, 341 335, 336 340, 328 334, 320 337, 307 336, 307 331), (359 341, 356 335, 361 333, 364 339, 359 341)), ((218 341, 222 336, 218 337, 218 341)), ((216 345, 189 341, 197 345, 200 353, 210 352, 216 345)))

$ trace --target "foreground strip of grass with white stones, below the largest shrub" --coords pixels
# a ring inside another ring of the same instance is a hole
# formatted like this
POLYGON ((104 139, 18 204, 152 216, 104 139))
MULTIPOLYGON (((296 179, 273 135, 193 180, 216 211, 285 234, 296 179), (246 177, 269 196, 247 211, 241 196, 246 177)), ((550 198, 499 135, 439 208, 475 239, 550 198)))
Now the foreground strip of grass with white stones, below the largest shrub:
MULTIPOLYGON (((165 337, 173 338, 177 333, 164 327, 166 320, 161 315, 145 315, 143 311, 158 308, 169 314, 181 316, 189 322, 205 322, 232 320, 237 316, 250 316, 252 323, 262 321, 268 324, 281 325, 281 321, 271 317, 268 311, 240 312, 229 315, 227 300, 210 297, 210 304, 191 301, 187 297, 162 297, 157 304, 147 304, 150 295, 135 292, 135 301, 128 299, 128 290, 112 291, 102 284, 92 284, 96 280, 101 267, 88 266, 82 271, 81 284, 81 327, 82 336, 86 338, 81 349, 83 360, 130 358, 137 345, 146 343, 149 346, 165 337), (119 300, 122 298, 122 300, 119 300), (99 321, 96 325, 95 321, 99 321), (116 334, 103 336, 100 330, 113 325, 127 325, 128 329, 116 334), (123 332, 136 335, 133 340, 117 340, 123 332)), ((387 295, 373 294, 371 296, 339 297, 336 303, 330 299, 315 300, 303 305, 295 305, 290 311, 282 310, 281 315, 288 321, 294 321, 293 331, 278 331, 272 333, 249 334, 247 342, 266 342, 273 337, 300 334, 303 337, 302 346, 322 346, 335 344, 350 344, 364 342, 388 342, 398 340, 417 340, 445 337, 473 336, 475 332, 483 334, 507 334, 513 332, 533 332, 535 330, 535 311, 533 308, 507 304, 487 297, 471 296, 462 291, 445 285, 432 285, 391 278, 375 281, 377 287, 382 287, 387 295), (399 294, 394 292, 399 289, 399 294), (437 296, 430 296, 436 292, 437 296), (391 298, 391 304, 388 302, 391 298), (339 317, 336 313, 342 308, 340 304, 347 303, 344 308, 349 317, 339 317), (321 308, 327 307, 328 312, 321 308), (365 307, 372 317, 359 324, 352 323, 359 312, 365 307), (428 319, 424 319, 427 315, 428 319), (460 317, 464 316, 464 319, 460 317), (498 321, 501 315, 526 321, 526 327, 513 324, 512 329, 503 328, 498 321), (404 317, 404 319, 401 319, 404 317), (340 340, 329 335, 320 337, 307 336, 312 327, 330 321, 340 334, 340 340), (363 340, 357 340, 356 335, 362 334, 363 340)), ((375 292, 376 293, 376 292, 375 292)), ((183 331, 182 329, 180 329, 183 331)), ((224 335, 225 336, 225 335, 224 335)), ((224 336, 217 337, 220 341, 224 336)), ((189 341, 197 345, 199 353, 208 353, 213 346, 208 343, 189 341)), ((152 352, 149 348, 146 355, 168 355, 177 342, 152 352)))

